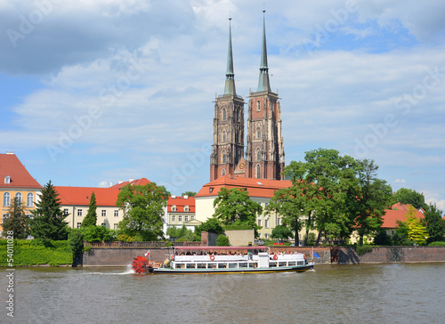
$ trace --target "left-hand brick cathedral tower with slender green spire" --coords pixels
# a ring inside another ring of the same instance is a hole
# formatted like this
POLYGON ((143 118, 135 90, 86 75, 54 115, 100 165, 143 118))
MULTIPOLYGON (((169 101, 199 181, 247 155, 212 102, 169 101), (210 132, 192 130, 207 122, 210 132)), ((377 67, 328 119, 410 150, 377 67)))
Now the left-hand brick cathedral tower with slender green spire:
POLYGON ((231 50, 231 19, 229 19, 229 50, 223 95, 214 103, 214 144, 210 156, 210 181, 234 174, 244 154, 244 98, 235 88, 231 50))

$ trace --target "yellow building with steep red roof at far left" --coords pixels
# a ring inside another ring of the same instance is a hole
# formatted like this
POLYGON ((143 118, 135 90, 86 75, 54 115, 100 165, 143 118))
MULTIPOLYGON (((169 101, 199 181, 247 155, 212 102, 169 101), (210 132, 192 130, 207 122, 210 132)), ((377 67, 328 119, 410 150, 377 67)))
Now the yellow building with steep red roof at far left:
MULTIPOLYGON (((3 198, 2 224, 9 217, 9 210, 14 198, 18 198, 25 208, 25 213, 31 215, 36 208, 39 193, 42 190, 40 183, 36 182, 28 170, 23 166, 13 152, 0 154, 0 194, 3 198)), ((0 231, 3 228, 0 224, 0 231)))

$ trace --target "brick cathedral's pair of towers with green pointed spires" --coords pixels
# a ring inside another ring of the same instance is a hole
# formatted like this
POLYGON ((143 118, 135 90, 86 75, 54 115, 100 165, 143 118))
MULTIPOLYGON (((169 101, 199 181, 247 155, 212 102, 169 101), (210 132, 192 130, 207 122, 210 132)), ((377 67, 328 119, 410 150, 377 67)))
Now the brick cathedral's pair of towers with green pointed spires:
POLYGON ((244 144, 244 97, 237 94, 229 24, 229 50, 224 93, 214 103, 214 143, 210 157, 210 181, 224 175, 284 180, 283 136, 278 92, 271 91, 265 18, 260 74, 256 92, 249 93, 247 134, 244 144), (245 151, 246 149, 246 151, 245 151))

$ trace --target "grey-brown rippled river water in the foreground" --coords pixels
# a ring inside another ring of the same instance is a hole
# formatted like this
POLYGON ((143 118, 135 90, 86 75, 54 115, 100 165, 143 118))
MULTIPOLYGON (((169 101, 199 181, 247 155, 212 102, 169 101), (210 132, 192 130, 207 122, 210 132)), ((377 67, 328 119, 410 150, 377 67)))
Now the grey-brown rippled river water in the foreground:
POLYGON ((136 275, 18 268, 1 323, 443 323, 445 263, 320 265, 303 273, 136 275))

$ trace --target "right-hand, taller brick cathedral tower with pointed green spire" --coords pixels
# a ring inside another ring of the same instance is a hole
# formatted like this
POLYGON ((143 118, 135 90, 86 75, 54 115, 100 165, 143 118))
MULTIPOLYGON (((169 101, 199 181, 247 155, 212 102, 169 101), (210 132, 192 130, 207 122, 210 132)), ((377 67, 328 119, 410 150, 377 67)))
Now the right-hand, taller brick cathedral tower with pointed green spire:
POLYGON ((249 93, 247 117, 246 176, 284 180, 283 136, 279 96, 271 92, 267 65, 266 28, 263 11, 263 39, 258 89, 249 93))

